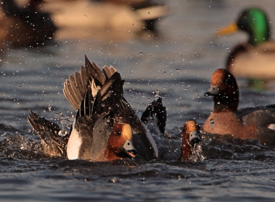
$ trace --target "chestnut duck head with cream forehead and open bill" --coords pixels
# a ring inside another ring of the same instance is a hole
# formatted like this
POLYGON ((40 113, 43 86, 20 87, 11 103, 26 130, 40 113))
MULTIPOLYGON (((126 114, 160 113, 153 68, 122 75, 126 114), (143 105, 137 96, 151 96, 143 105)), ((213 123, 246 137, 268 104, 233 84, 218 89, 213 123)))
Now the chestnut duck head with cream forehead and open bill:
POLYGON ((113 126, 104 156, 108 161, 134 158, 137 151, 133 147, 132 128, 129 124, 118 123, 113 126))

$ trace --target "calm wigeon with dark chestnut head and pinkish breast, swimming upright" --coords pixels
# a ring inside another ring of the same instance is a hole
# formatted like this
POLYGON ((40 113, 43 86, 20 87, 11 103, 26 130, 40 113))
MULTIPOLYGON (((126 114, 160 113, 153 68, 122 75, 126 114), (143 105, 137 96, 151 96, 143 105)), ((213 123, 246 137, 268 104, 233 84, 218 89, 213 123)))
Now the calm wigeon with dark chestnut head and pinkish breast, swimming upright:
POLYGON ((258 106, 239 109, 239 87, 226 69, 212 74, 210 88, 204 96, 212 96, 214 110, 203 124, 204 133, 230 134, 234 138, 259 139, 261 144, 275 145, 275 109, 258 106))

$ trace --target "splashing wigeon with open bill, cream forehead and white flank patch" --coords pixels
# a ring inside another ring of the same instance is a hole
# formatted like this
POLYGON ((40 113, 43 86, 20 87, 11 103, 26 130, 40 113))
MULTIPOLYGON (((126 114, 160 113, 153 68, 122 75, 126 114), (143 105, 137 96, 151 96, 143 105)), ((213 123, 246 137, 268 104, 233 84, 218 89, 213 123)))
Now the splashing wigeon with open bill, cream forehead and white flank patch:
MULTIPOLYGON (((69 135, 60 136, 57 124, 30 111, 28 120, 41 137, 43 152, 52 156, 65 155, 67 159, 113 161, 135 157, 132 129, 129 124, 116 122, 112 111, 104 104, 118 99, 123 82, 113 74, 94 97, 89 85, 72 124, 69 135), (105 91, 106 90, 106 91, 105 91), (106 97, 108 93, 108 97, 106 97)), ((109 106, 111 108, 111 105, 109 106)))

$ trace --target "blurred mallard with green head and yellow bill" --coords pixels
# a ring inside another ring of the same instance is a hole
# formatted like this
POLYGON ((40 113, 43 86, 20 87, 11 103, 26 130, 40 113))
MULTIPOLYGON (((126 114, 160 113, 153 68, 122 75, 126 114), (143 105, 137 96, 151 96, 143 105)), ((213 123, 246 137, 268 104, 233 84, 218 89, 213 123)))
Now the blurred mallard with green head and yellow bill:
POLYGON ((221 28, 217 35, 236 31, 248 34, 248 41, 236 45, 230 52, 226 69, 240 78, 262 81, 275 79, 275 41, 270 38, 270 21, 260 8, 246 8, 236 23, 221 28))

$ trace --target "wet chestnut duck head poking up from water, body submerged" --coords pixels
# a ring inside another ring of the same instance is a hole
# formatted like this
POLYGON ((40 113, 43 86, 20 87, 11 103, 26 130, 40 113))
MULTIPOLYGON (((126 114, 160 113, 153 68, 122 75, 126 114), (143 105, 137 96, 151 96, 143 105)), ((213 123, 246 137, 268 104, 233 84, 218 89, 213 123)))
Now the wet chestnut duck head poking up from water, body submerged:
POLYGON ((192 148, 195 147, 195 144, 201 142, 201 133, 199 129, 199 124, 194 120, 189 120, 184 124, 181 131, 181 161, 189 161, 192 158, 192 148))

